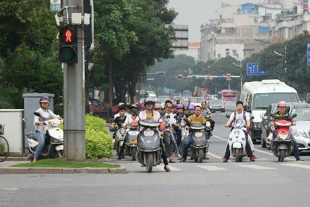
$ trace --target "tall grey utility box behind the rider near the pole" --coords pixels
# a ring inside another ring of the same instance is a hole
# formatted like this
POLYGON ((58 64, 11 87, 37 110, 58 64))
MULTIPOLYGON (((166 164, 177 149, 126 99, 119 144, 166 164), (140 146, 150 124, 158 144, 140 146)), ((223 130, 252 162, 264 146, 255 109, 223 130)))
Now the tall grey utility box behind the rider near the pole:
POLYGON ((29 146, 27 143, 27 135, 29 132, 34 132, 34 114, 36 110, 40 108, 40 99, 41 97, 46 96, 50 97, 50 106, 49 110, 54 111, 54 94, 50 93, 25 93, 23 94, 23 108, 24 108, 24 146, 25 152, 29 151, 29 146))

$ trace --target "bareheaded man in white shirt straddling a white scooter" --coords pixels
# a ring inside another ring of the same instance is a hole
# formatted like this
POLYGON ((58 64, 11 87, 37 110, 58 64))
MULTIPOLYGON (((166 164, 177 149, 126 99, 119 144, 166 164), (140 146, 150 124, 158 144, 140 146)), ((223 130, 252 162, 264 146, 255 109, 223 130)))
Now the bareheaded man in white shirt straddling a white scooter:
MULTIPOLYGON (((249 157, 251 161, 255 161, 248 140, 249 135, 247 132, 247 128, 251 126, 249 113, 244 110, 242 101, 237 101, 236 108, 237 110, 231 113, 230 118, 227 121, 227 124, 225 124, 225 127, 229 127, 231 126, 231 124, 234 123, 234 126, 240 127, 243 130, 243 132, 245 132, 245 140, 247 143, 245 146, 245 150, 247 150, 247 157, 249 157)), ((230 155, 230 149, 229 144, 227 143, 225 155, 223 157, 223 162, 228 161, 229 155, 230 155)))

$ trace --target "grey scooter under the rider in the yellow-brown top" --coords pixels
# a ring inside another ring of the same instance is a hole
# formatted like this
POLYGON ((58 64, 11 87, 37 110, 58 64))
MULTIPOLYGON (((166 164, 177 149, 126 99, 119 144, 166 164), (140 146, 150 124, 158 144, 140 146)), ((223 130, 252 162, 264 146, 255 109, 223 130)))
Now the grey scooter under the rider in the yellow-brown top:
POLYGON ((193 125, 190 124, 188 119, 184 119, 187 122, 187 125, 192 132, 192 144, 191 144, 191 159, 194 159, 196 162, 201 163, 203 158, 206 157, 206 154, 209 150, 209 144, 207 143, 207 137, 205 132, 205 125, 193 125))

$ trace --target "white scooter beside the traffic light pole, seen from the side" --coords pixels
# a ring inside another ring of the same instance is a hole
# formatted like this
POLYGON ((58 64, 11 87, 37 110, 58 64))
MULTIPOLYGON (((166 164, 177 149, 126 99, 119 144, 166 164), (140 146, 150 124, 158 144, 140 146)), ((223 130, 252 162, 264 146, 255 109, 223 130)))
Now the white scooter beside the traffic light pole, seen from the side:
MULTIPOLYGON (((39 159, 63 157, 63 130, 58 127, 63 121, 59 119, 50 119, 46 121, 41 117, 39 112, 34 112, 34 115, 39 117, 44 125, 49 126, 48 134, 50 135, 50 140, 46 140, 45 137, 45 146, 39 155, 39 159)), ((29 135, 27 135, 27 142, 30 150, 28 159, 32 160, 34 158, 34 152, 39 145, 39 141, 35 138, 35 132, 30 132, 29 135)))

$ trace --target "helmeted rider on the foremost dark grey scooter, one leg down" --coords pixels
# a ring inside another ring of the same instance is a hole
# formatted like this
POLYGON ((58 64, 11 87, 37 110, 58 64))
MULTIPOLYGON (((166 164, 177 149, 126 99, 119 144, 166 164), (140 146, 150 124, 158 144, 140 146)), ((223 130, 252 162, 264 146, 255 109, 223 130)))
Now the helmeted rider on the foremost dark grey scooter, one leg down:
MULTIPOLYGON (((145 106, 145 110, 141 111, 139 114, 140 119, 154 119, 155 121, 160 121, 159 119, 161 118, 161 115, 159 114, 159 112, 157 112, 156 110, 154 110, 154 106, 155 106, 155 100, 152 97, 147 97, 144 101, 144 106, 145 106)), ((163 147, 163 142, 162 139, 161 140, 161 158, 163 159, 163 162, 165 164, 164 169, 167 172, 170 172, 170 169, 168 167, 168 161, 167 161, 167 157, 166 157, 166 153, 165 153, 165 149, 163 147)))

